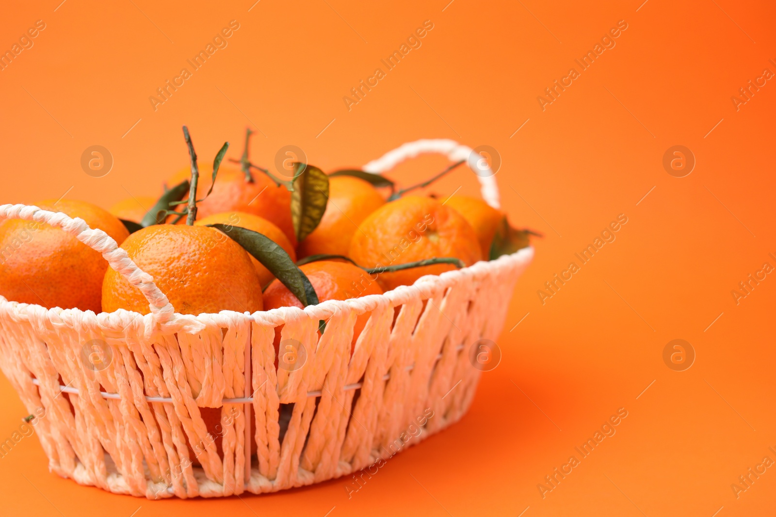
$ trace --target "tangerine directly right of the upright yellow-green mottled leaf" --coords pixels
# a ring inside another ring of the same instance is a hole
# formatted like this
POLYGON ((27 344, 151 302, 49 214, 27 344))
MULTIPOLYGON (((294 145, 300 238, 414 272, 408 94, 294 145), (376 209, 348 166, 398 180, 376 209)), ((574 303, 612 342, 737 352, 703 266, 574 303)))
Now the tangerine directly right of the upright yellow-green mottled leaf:
POLYGON ((352 176, 329 178, 329 199, 320 224, 299 245, 299 256, 347 255, 353 234, 386 200, 369 183, 352 176))

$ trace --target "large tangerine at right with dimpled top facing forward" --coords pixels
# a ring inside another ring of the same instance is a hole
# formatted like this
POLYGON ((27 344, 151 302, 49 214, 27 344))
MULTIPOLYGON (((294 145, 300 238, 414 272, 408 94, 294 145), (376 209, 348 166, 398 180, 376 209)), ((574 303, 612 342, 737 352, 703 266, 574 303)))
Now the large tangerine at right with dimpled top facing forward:
MULTIPOLYGON (((370 268, 431 257, 457 257, 470 266, 482 259, 482 250, 474 229, 458 212, 435 199, 408 195, 386 203, 364 219, 353 234, 348 257, 370 268)), ((390 291, 411 285, 425 274, 455 268, 453 264, 432 264, 381 273, 377 281, 390 291)))

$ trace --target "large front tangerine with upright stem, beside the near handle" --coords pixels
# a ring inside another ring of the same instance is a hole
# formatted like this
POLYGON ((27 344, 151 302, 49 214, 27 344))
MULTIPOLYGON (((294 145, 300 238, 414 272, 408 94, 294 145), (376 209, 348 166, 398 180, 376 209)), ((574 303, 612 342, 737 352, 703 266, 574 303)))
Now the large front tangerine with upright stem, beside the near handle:
MULTIPOLYGON (((207 226, 154 225, 122 244, 126 253, 181 314, 262 310, 262 286, 242 247, 207 226)), ((147 314, 148 302, 113 269, 102 282, 102 310, 118 308, 147 314)))

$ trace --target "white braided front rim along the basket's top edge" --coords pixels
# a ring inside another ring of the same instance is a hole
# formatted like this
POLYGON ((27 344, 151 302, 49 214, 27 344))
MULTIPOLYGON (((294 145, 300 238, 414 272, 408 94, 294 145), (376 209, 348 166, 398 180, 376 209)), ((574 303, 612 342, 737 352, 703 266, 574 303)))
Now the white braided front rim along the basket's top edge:
MULTIPOLYGON (((228 311, 223 310, 220 312, 203 312, 199 315, 191 315, 191 314, 181 314, 179 312, 175 312, 172 318, 166 322, 161 323, 161 326, 181 326, 182 323, 189 323, 188 326, 196 327, 195 331, 199 331, 204 328, 204 326, 207 326, 209 324, 218 324, 218 322, 223 321, 234 321, 234 319, 241 319, 246 318, 249 321, 252 322, 272 322, 276 325, 282 325, 283 322, 288 319, 289 316, 296 316, 300 317, 300 315, 303 313, 304 315, 310 316, 311 318, 318 318, 318 319, 327 319, 331 317, 335 312, 338 312, 340 310, 344 310, 347 308, 350 308, 352 310, 355 310, 355 312, 362 314, 364 312, 369 312, 371 310, 374 310, 378 305, 382 304, 390 304, 393 303, 393 305, 402 305, 409 301, 409 299, 414 296, 414 294, 417 291, 421 292, 422 298, 431 298, 431 292, 435 291, 439 287, 444 286, 445 288, 449 287, 450 284, 454 283, 455 281, 459 280, 459 278, 466 276, 466 275, 482 275, 487 274, 490 271, 497 269, 499 267, 508 267, 508 266, 517 266, 525 264, 525 266, 528 266, 528 264, 531 263, 533 257, 534 257, 535 250, 533 246, 526 246, 525 248, 521 248, 520 250, 516 251, 515 253, 511 253, 510 255, 502 255, 501 257, 498 257, 495 260, 480 260, 476 262, 476 264, 472 264, 468 267, 462 267, 458 270, 453 271, 445 271, 442 274, 434 275, 434 274, 427 274, 420 278, 418 278, 414 284, 412 285, 400 285, 399 287, 392 289, 391 291, 386 291, 382 295, 367 295, 362 296, 360 298, 348 298, 347 300, 327 300, 325 302, 320 302, 317 305, 307 305, 305 308, 298 308, 295 306, 289 306, 289 307, 280 307, 280 308, 272 308, 268 311, 256 311, 256 312, 237 312, 237 311, 228 311), (200 325, 196 325, 196 323, 199 323, 200 325)), ((144 321, 146 319, 150 319, 153 314, 140 314, 140 312, 134 312, 134 311, 128 311, 126 309, 120 308, 114 312, 99 312, 95 313, 92 310, 82 310, 80 308, 60 308, 60 307, 52 307, 52 308, 46 308, 42 305, 36 305, 36 304, 28 304, 23 302, 14 302, 12 300, 8 300, 2 295, 0 295, 0 311, 11 311, 16 313, 16 315, 22 315, 23 312, 26 311, 33 311, 33 312, 45 312, 47 315, 57 315, 61 316, 64 314, 71 315, 75 318, 78 317, 86 317, 86 318, 95 318, 99 320, 105 320, 100 321, 102 323, 102 327, 114 327, 112 325, 113 319, 121 319, 123 320, 123 325, 121 325, 119 328, 128 326, 132 321, 134 322, 140 322, 144 321)), ((58 319, 58 318, 57 318, 58 319)), ((187 326, 187 325, 184 325, 187 326)))

